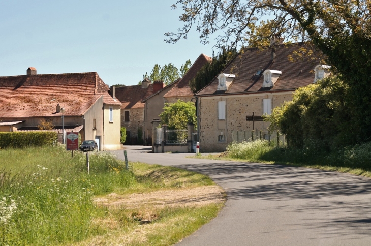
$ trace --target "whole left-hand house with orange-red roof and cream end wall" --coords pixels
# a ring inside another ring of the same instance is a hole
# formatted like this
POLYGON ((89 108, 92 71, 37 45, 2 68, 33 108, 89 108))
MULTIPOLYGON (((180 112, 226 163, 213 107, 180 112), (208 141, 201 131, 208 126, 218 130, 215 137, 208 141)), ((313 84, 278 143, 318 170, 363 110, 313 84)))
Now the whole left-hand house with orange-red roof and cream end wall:
POLYGON ((79 132, 102 150, 120 149, 120 105, 96 72, 0 77, 0 131, 79 132))

